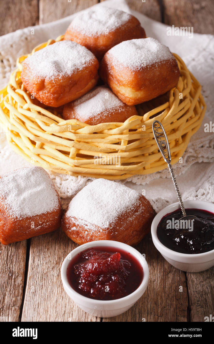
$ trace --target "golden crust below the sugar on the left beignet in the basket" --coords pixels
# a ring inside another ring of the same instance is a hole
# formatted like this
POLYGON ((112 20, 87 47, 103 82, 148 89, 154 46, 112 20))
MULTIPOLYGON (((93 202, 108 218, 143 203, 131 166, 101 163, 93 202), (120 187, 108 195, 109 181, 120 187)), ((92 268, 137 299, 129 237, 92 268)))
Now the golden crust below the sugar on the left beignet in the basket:
POLYGON ((41 103, 59 107, 91 90, 98 82, 98 68, 99 62, 94 56, 93 63, 83 67, 81 71, 60 79, 56 77, 54 80, 49 80, 31 76, 27 64, 23 63, 21 80, 26 89, 41 103))

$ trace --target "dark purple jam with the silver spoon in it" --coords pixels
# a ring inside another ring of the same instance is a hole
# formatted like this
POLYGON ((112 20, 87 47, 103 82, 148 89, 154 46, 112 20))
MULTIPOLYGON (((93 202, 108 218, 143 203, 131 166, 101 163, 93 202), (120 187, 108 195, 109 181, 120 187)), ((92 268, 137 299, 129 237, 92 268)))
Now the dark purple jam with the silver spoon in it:
POLYGON ((196 216, 188 222, 178 221, 183 215, 176 210, 165 215, 158 224, 160 242, 173 251, 198 254, 214 249, 214 214, 201 209, 185 209, 187 215, 196 216))

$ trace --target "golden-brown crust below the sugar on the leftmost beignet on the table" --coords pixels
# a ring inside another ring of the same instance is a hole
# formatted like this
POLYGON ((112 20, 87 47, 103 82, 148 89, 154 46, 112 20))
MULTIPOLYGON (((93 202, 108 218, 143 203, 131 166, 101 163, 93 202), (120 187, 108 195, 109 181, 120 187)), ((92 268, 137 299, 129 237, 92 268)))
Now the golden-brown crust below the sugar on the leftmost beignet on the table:
POLYGON ((62 207, 59 196, 57 209, 45 214, 13 218, 6 210, 4 201, 0 198, 0 241, 3 245, 53 232, 60 227, 62 207))

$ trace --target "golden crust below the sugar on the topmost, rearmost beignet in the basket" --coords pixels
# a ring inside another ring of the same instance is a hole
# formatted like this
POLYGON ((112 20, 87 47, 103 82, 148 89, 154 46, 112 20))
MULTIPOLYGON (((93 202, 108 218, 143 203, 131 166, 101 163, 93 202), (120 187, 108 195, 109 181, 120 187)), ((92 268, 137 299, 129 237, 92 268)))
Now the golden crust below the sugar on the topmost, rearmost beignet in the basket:
POLYGON ((88 48, 99 61, 114 45, 134 38, 146 38, 144 29, 140 26, 140 22, 134 16, 131 16, 125 25, 122 25, 107 34, 86 36, 68 27, 64 36, 64 40, 75 41, 88 48))

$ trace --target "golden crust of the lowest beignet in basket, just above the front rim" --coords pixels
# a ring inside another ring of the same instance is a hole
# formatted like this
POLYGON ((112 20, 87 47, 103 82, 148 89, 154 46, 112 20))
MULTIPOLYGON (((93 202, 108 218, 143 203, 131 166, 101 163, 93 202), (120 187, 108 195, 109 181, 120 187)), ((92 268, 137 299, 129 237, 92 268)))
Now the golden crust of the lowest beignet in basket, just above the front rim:
POLYGON ((122 110, 119 108, 113 109, 108 115, 103 115, 103 112, 100 114, 94 115, 93 117, 88 118, 87 120, 83 119, 76 111, 74 104, 68 103, 64 106, 63 109, 63 118, 67 119, 77 119, 83 123, 90 124, 91 126, 95 126, 99 123, 109 123, 109 122, 124 122, 127 118, 131 116, 137 116, 137 110, 135 106, 128 106, 124 105, 122 110))

